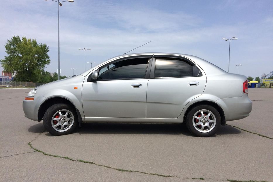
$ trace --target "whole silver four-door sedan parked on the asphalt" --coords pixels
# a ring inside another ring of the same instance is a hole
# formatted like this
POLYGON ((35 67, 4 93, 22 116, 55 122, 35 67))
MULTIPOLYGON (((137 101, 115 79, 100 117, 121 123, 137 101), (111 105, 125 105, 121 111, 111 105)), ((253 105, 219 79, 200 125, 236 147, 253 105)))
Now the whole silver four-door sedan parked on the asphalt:
POLYGON ((25 117, 52 135, 81 123, 186 123, 200 137, 252 109, 246 76, 226 73, 196 56, 116 56, 80 74, 41 85, 23 101, 25 117))

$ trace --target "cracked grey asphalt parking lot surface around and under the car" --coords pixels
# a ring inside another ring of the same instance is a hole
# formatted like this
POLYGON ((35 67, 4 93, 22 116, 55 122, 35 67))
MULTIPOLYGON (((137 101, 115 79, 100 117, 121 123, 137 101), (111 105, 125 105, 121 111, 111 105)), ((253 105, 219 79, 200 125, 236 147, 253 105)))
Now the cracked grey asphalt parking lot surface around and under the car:
POLYGON ((183 124, 118 123, 52 136, 24 117, 29 90, 0 89, 0 181, 273 181, 273 89, 249 89, 250 116, 210 138, 183 124))

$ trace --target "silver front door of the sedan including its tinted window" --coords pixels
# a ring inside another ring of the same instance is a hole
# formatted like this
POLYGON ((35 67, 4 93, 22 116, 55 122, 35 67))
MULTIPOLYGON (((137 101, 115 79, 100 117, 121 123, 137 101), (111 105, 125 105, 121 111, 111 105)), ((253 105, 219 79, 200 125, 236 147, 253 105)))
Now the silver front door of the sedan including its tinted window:
POLYGON ((85 117, 145 118, 149 57, 99 67, 98 79, 83 83, 85 117))

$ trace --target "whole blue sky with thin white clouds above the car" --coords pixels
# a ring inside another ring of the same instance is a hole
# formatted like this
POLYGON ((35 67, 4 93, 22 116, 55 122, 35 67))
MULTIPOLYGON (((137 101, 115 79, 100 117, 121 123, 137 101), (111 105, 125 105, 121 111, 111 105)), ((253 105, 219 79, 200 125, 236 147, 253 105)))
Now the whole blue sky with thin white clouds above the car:
MULTIPOLYGON (((88 1, 60 7, 61 75, 84 71, 86 62, 101 63, 146 42, 135 52, 191 54, 230 72, 261 77, 273 71, 273 1, 88 1)), ((58 68, 58 4, 44 0, 9 0, 0 7, 0 59, 13 35, 49 46, 50 65, 58 68)), ((86 63, 86 69, 91 67, 86 63)), ((0 71, 3 68, 0 67, 0 71)))

